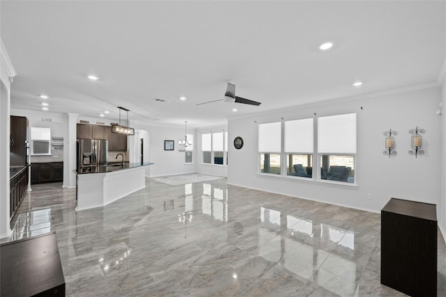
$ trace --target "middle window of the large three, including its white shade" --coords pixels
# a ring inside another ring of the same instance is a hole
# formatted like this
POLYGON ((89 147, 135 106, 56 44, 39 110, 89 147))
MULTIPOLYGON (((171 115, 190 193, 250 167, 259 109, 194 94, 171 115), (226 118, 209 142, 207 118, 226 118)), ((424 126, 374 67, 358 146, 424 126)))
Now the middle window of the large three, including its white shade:
POLYGON ((286 175, 313 177, 313 119, 284 123, 286 175))

